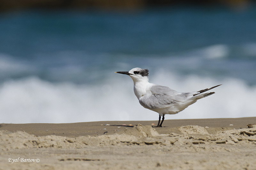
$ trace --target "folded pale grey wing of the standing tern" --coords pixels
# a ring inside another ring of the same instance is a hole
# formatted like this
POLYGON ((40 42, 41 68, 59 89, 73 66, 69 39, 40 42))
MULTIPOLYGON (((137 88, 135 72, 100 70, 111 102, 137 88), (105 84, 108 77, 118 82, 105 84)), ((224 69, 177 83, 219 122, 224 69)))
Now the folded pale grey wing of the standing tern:
POLYGON ((155 110, 171 107, 183 102, 180 92, 170 89, 166 86, 154 85, 150 88, 151 96, 142 96, 139 99, 140 104, 148 109, 155 110))

